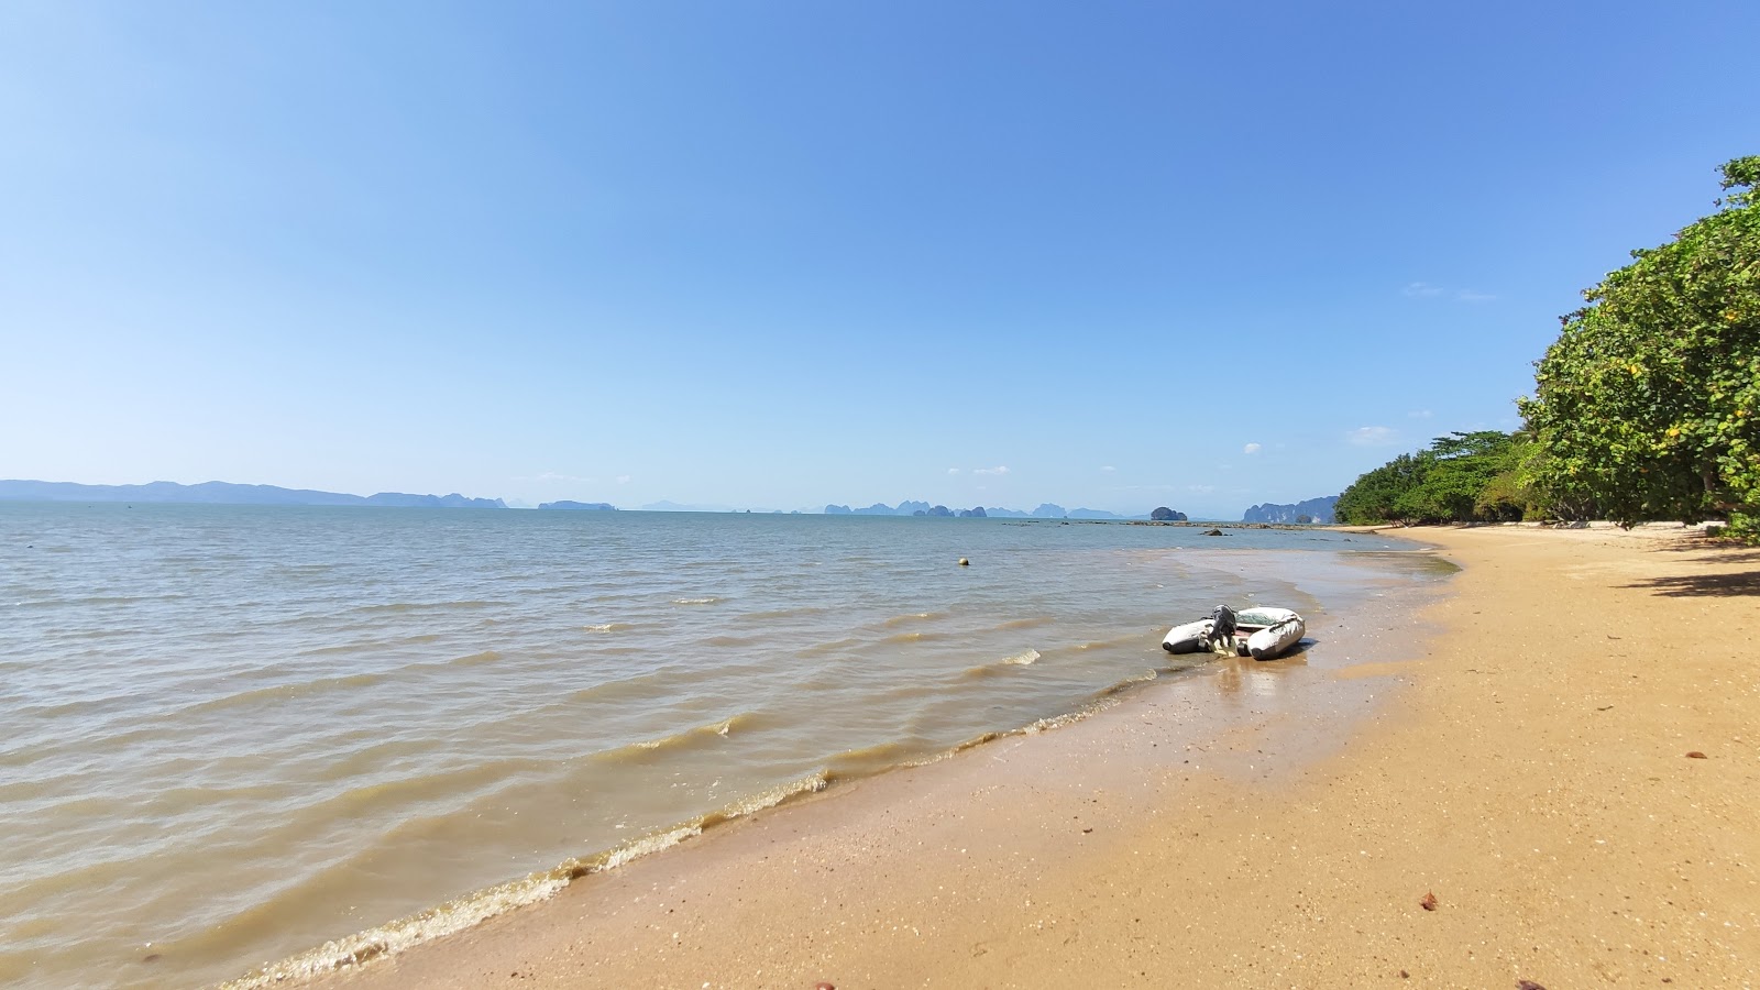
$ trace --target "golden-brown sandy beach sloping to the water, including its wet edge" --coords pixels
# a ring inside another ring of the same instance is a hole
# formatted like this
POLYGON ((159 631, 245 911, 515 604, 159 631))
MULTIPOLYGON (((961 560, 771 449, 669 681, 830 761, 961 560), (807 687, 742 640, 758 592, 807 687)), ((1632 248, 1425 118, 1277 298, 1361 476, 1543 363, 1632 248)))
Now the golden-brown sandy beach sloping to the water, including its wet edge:
POLYGON ((1464 571, 1375 662, 1221 661, 324 985, 1760 981, 1760 551, 1415 534, 1464 571))

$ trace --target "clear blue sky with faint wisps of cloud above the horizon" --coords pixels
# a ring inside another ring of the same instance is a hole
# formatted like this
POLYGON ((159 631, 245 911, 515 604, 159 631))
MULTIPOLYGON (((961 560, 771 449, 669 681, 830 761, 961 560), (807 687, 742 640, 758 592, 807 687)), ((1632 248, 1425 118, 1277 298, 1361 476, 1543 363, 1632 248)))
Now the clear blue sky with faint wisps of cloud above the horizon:
POLYGON ((1760 4, 0 0, 0 477, 1237 518, 1512 400, 1760 4))

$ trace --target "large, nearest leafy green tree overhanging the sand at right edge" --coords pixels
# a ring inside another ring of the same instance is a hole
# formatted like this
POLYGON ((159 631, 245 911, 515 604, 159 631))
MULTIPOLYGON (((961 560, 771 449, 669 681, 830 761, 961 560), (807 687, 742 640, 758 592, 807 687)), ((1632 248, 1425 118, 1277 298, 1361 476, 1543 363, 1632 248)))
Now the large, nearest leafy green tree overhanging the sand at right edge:
POLYGON ((1721 171, 1720 210, 1586 291, 1519 400, 1563 514, 1760 536, 1760 155, 1721 171))

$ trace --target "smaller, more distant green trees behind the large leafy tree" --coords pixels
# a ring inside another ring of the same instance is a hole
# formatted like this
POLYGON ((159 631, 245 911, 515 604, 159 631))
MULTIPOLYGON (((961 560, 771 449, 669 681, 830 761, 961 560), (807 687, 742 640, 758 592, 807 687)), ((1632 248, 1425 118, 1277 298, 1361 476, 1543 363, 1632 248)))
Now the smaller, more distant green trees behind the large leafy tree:
POLYGON ((1521 520, 1526 447, 1526 437, 1496 430, 1436 437, 1427 451, 1399 454, 1359 477, 1332 514, 1355 525, 1521 520))

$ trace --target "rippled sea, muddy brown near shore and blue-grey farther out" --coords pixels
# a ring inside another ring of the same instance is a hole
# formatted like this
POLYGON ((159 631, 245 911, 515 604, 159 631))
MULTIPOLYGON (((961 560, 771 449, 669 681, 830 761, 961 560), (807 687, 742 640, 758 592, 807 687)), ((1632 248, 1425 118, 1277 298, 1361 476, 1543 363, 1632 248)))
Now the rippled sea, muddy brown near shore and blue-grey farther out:
POLYGON ((236 986, 1086 717, 1413 544, 1000 518, 0 502, 0 985, 236 986), (961 558, 968 560, 961 565, 961 558))

